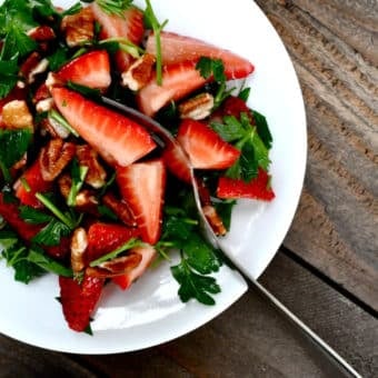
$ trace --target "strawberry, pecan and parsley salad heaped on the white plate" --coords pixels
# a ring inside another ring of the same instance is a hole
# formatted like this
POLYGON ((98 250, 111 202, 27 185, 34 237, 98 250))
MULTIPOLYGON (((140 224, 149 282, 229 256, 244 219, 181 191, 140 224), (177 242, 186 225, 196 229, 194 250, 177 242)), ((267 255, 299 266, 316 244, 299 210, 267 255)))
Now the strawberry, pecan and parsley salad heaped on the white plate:
POLYGON ((223 259, 201 235, 187 158, 219 236, 237 199, 275 198, 272 138, 242 86, 251 62, 166 31, 148 0, 86 2, 0 7, 1 257, 24 284, 57 275, 76 331, 90 331, 105 285, 127 290, 171 250, 181 300, 215 304, 223 259), (155 118, 182 149, 103 97, 155 118))

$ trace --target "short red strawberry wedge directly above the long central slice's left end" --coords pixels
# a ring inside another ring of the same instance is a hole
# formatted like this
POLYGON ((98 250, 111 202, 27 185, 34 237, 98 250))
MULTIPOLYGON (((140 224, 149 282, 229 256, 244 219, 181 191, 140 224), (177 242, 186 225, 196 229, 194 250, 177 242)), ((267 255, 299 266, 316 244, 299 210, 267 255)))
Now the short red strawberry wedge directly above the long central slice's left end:
POLYGON ((106 50, 87 52, 67 64, 58 72, 63 81, 105 90, 110 86, 110 61, 106 50))

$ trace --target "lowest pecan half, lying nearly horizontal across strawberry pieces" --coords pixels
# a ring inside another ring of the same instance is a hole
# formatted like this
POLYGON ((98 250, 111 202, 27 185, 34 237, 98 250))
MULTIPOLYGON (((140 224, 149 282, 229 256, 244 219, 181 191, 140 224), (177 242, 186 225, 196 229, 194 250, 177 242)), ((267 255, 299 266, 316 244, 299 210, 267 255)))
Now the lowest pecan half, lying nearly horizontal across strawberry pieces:
POLYGON ((112 260, 105 261, 97 267, 88 267, 86 273, 91 277, 111 278, 127 273, 139 266, 142 256, 136 252, 129 252, 127 256, 117 257, 112 260))

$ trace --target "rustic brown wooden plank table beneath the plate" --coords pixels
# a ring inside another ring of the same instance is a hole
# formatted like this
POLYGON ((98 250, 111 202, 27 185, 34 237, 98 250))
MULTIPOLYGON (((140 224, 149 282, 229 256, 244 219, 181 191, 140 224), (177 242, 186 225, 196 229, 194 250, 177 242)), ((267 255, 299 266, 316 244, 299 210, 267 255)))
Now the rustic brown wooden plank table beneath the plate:
MULTIPOLYGON (((300 205, 261 282, 365 377, 378 376, 378 1, 257 0, 304 91, 300 205)), ((322 377, 325 359, 251 288, 175 341, 74 356, 0 336, 0 377, 322 377)))

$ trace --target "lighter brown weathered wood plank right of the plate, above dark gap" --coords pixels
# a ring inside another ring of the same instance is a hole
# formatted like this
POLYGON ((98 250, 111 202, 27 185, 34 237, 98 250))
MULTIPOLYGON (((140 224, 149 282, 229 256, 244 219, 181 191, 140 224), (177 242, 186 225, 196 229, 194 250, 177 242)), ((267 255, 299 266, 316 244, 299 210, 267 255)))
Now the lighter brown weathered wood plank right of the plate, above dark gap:
POLYGON ((378 310, 378 3, 257 2, 307 110, 305 189, 285 246, 378 310))

